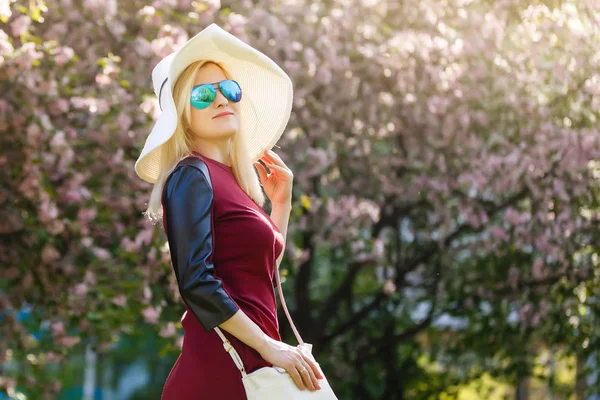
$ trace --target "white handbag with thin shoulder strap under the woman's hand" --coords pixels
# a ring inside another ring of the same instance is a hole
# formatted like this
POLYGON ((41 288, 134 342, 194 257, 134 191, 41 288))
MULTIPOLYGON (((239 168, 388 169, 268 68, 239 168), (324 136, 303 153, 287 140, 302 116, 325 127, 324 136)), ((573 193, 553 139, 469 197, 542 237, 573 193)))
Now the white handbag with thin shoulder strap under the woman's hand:
MULTIPOLYGON (((296 339, 298 340, 298 348, 302 349, 304 354, 308 355, 309 358, 319 366, 320 370, 321 366, 312 355, 312 344, 305 343, 302 340, 300 334, 296 330, 296 326, 294 326, 292 317, 290 317, 290 313, 287 310, 283 292, 281 290, 281 282, 279 281, 279 268, 277 268, 276 274, 279 298, 281 299, 285 315, 287 316, 288 321, 290 321, 294 335, 296 335, 296 339)), ((292 377, 281 367, 262 367, 247 374, 242 359, 231 345, 231 342, 227 340, 219 327, 216 327, 215 330, 223 340, 223 347, 229 353, 233 362, 242 374, 242 383, 244 384, 248 400, 337 400, 337 397, 333 393, 333 390, 331 389, 331 386, 329 386, 329 382, 327 382, 327 378, 325 378, 325 374, 323 374, 322 371, 321 374, 323 375, 323 379, 318 379, 321 390, 315 391, 308 389, 306 385, 304 390, 300 390, 292 377)))

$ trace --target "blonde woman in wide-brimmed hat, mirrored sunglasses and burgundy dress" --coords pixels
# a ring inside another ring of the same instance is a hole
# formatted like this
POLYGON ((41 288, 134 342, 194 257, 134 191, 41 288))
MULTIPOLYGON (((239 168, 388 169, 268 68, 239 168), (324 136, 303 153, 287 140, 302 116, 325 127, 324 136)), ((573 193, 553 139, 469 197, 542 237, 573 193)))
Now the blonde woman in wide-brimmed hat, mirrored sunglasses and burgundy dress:
POLYGON ((280 366, 299 388, 318 390, 314 359, 281 342, 273 290, 293 176, 270 147, 289 119, 289 77, 214 24, 152 77, 163 111, 135 169, 154 183, 146 214, 162 219, 186 305, 182 352, 162 400, 246 399, 217 326, 247 373, 280 366))

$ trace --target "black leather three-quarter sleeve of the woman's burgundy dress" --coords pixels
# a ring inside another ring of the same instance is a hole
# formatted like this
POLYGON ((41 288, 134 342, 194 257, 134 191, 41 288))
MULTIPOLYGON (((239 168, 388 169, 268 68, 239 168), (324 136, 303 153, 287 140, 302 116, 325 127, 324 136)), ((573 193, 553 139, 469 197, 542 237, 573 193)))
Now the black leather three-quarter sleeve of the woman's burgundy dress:
POLYGON ((203 169, 206 172, 195 165, 177 166, 165 183, 162 202, 179 293, 208 332, 239 307, 214 275, 213 190, 203 169))

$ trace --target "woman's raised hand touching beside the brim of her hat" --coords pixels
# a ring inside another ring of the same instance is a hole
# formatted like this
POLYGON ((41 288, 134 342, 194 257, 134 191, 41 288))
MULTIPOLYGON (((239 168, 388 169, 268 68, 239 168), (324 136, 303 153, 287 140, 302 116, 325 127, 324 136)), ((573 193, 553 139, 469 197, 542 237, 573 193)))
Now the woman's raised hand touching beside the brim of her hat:
POLYGON ((266 150, 260 160, 271 170, 271 173, 267 174, 264 165, 258 161, 254 163, 258 170, 260 183, 271 203, 273 205, 291 204, 292 182, 294 180, 292 170, 285 165, 273 150, 266 150))

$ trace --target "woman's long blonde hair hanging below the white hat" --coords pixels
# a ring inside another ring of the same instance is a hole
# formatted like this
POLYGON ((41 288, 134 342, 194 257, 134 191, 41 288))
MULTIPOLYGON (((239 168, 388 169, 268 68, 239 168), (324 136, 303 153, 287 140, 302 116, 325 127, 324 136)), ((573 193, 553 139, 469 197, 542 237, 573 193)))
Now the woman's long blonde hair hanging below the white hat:
MULTIPOLYGON (((156 224, 162 220, 161 197, 165 181, 171 172, 173 172, 177 163, 189 156, 194 150, 192 146, 194 133, 190 129, 192 111, 189 99, 196 80, 196 74, 206 63, 213 63, 219 66, 227 79, 232 79, 225 68, 212 60, 201 60, 190 64, 177 78, 173 87, 173 99, 175 101, 175 109, 177 110, 177 127, 173 136, 161 146, 160 174, 150 193, 148 208, 143 213, 152 224, 156 224)), ((241 123, 243 121, 240 121, 241 123)), ((249 156, 248 138, 239 134, 234 135, 230 142, 229 154, 232 172, 236 181, 242 190, 258 206, 262 207, 265 203, 265 195, 262 191, 258 174, 249 156)))

